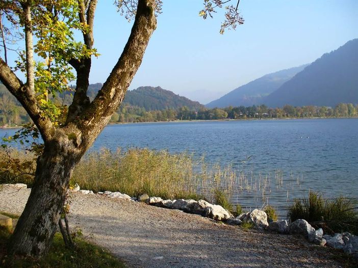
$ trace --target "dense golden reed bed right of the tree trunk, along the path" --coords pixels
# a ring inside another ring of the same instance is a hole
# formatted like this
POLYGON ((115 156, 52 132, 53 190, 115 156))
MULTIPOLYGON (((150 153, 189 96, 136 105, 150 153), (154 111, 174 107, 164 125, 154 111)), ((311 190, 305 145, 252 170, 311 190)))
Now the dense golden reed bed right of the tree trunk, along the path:
POLYGON ((125 152, 92 152, 76 167, 72 184, 93 191, 119 191, 131 196, 147 193, 165 199, 194 198, 198 176, 192 156, 131 148, 125 152))

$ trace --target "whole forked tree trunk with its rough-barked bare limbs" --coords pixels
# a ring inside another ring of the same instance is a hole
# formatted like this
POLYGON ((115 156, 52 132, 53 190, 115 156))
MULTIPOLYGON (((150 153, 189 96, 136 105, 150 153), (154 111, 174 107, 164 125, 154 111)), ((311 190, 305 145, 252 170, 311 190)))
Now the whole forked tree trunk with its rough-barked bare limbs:
MULTIPOLYGON (((80 20, 93 29, 97 0, 86 3, 89 3, 87 21, 83 18, 83 5, 80 20)), ((23 3, 29 15, 27 5, 23 3)), ((55 128, 48 117, 40 116, 42 112, 33 94, 33 83, 30 83, 33 76, 28 74, 28 82, 23 84, 0 58, 0 80, 27 110, 45 141, 44 153, 37 161, 34 186, 8 247, 10 254, 41 256, 48 250, 57 228, 72 171, 122 102, 157 26, 155 9, 156 0, 138 0, 131 35, 110 76, 91 103, 86 95, 91 62, 88 59, 70 60, 78 79, 73 103, 62 129, 55 128)), ((31 25, 30 18, 27 25, 31 25)), ((27 27, 25 32, 31 35, 31 27, 27 27)), ((84 37, 85 44, 90 49, 93 42, 92 31, 85 33, 84 37)), ((30 40, 27 42, 27 51, 31 52, 32 42, 31 39, 27 40, 30 40)), ((31 55, 29 56, 29 61, 32 62, 31 55)))

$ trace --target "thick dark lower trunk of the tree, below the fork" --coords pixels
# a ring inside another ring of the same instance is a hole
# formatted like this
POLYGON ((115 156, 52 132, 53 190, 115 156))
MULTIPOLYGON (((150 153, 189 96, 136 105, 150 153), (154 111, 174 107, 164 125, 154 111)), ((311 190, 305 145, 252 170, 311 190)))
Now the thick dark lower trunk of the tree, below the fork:
POLYGON ((39 256, 47 252, 57 229, 72 171, 81 156, 65 135, 45 145, 44 153, 37 160, 29 200, 10 241, 10 254, 39 256))

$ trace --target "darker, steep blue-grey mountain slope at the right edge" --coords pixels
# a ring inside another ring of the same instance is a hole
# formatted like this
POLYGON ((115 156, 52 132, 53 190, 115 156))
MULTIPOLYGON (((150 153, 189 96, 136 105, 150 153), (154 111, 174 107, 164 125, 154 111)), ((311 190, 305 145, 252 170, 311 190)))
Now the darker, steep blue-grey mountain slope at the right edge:
POLYGON ((358 103, 358 39, 323 54, 265 97, 261 104, 335 106, 340 102, 358 103))

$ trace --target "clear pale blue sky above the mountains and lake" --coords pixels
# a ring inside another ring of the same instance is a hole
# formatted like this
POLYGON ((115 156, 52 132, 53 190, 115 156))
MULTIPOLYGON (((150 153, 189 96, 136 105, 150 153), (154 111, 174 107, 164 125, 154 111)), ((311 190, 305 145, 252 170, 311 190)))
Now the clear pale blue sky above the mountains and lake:
MULTIPOLYGON (((132 23, 113 0, 98 1, 91 83, 106 81, 129 37, 132 23)), ((356 0, 241 0, 245 23, 219 34, 223 12, 198 16, 203 0, 163 0, 163 12, 130 90, 161 86, 207 104, 235 88, 276 72, 312 63, 358 38, 356 0)), ((236 0, 232 4, 236 5, 236 0)))

